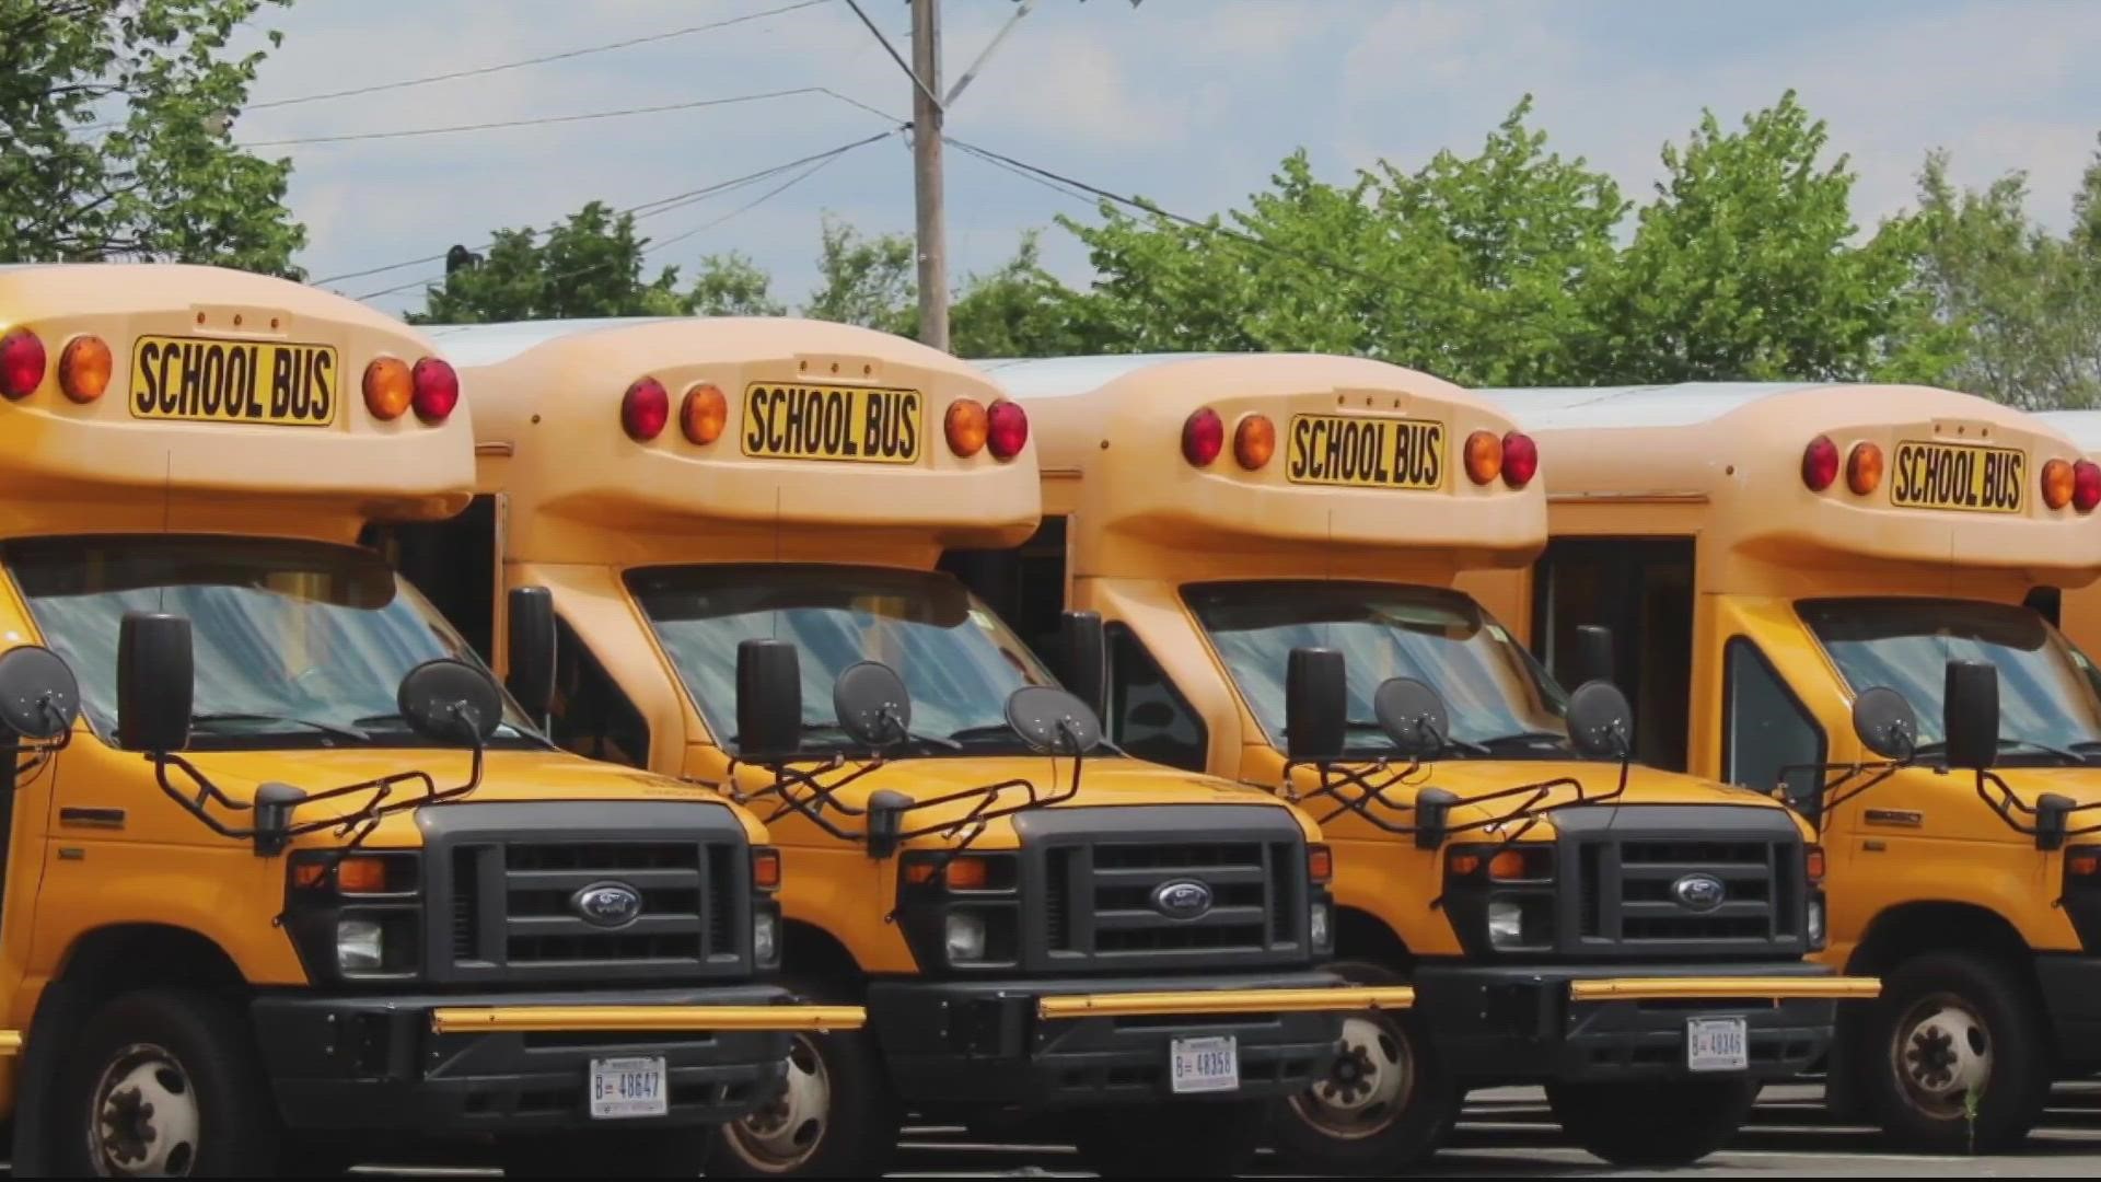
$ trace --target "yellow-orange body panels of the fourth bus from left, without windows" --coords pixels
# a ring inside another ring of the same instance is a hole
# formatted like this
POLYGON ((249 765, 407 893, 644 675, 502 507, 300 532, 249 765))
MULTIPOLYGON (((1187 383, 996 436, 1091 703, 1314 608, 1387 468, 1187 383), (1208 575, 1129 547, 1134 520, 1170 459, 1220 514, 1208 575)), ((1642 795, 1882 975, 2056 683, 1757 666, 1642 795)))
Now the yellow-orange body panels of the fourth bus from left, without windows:
MULTIPOLYGON (((2042 465, 2078 458, 2046 423, 1964 393, 1927 387, 1683 387, 1651 391, 1488 391, 1551 456, 1548 522, 1561 538, 1681 541, 1693 547, 1687 766, 1725 776, 1725 654, 1744 641, 1815 719, 1832 763, 1874 759, 1853 734, 1855 692, 1796 612, 1822 597, 1935 597, 2021 604, 2036 587, 2078 589, 2101 570, 2101 522, 2051 509, 2042 465), (1622 402, 1628 400, 1628 402, 1622 402), (1840 456, 1874 444, 1992 446, 2023 456, 2019 511, 1901 507, 1897 471, 1851 492, 1803 482, 1803 450, 1832 440, 1840 456)), ((1530 629, 1532 570, 1481 572, 1464 585, 1530 629)), ((1538 648, 1538 646, 1534 646, 1538 648)), ((2101 774, 2006 768, 2023 797, 2101 799, 2101 774)), ((1763 784, 1769 787, 1769 784, 1763 784)), ((1967 904, 2002 919, 2038 953, 2078 951, 2063 909, 2063 854, 2040 852, 1975 795, 1971 782, 1910 768, 1824 818, 1830 858, 1830 944, 1822 959, 1855 963, 1878 921, 1910 904, 1967 904)))

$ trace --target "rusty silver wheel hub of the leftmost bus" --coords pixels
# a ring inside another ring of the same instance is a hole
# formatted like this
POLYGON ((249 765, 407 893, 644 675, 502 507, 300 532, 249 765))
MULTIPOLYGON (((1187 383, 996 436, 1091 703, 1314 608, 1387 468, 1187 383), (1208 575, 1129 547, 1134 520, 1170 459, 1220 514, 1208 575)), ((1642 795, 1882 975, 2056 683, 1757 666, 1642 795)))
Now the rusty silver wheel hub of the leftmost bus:
POLYGON ((118 1052, 88 1108, 88 1161, 101 1178, 187 1176, 197 1163, 197 1092, 181 1060, 151 1043, 118 1052))

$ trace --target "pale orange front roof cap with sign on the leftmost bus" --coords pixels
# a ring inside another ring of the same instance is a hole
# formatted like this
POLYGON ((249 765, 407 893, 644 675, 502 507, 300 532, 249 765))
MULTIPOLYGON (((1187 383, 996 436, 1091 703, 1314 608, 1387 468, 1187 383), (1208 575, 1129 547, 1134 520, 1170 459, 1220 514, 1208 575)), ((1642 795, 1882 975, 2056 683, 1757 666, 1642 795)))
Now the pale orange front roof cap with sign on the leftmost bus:
POLYGON ((23 532, 347 541, 370 517, 456 513, 473 490, 464 400, 435 423, 370 412, 368 366, 393 358, 408 383, 435 347, 357 301, 223 267, 32 263, 0 267, 0 330, 44 349, 36 389, 0 404, 0 480, 34 490, 13 507, 23 532), (82 400, 63 374, 88 341, 107 347, 107 385, 82 400))

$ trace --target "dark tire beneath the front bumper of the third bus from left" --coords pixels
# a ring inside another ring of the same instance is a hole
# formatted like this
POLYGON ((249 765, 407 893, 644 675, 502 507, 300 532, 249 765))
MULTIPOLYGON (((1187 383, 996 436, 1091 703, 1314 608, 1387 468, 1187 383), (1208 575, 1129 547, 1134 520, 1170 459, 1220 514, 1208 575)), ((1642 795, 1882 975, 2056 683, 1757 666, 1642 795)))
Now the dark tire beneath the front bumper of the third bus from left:
POLYGON ((1759 1089, 1754 1079, 1548 1083, 1546 1104, 1561 1132, 1593 1157, 1668 1169, 1729 1144, 1759 1089))

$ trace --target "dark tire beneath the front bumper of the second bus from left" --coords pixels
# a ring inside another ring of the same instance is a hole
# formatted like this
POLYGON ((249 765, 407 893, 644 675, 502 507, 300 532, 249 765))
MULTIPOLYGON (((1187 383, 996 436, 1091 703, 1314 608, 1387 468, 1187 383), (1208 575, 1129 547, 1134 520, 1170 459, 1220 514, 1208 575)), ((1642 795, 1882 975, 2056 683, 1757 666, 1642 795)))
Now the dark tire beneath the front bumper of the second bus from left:
POLYGON ((1269 1132, 1273 1100, 1179 1100, 1067 1117, 1080 1161, 1103 1178, 1231 1178, 1269 1132))

